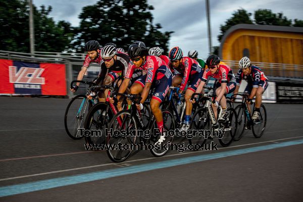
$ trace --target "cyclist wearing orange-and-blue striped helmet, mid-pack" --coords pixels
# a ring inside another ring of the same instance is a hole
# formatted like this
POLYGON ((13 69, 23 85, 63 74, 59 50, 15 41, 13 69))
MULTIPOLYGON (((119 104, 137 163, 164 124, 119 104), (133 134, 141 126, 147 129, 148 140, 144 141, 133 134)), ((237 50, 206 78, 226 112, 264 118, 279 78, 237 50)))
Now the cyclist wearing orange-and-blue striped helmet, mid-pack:
POLYGON ((173 47, 169 52, 169 59, 171 61, 170 68, 174 74, 173 86, 180 85, 179 93, 185 91, 185 117, 181 130, 187 131, 189 129, 190 114, 192 110, 192 103, 190 102, 191 95, 196 91, 202 75, 203 69, 199 66, 198 62, 189 58, 183 57, 183 52, 180 47, 173 47))

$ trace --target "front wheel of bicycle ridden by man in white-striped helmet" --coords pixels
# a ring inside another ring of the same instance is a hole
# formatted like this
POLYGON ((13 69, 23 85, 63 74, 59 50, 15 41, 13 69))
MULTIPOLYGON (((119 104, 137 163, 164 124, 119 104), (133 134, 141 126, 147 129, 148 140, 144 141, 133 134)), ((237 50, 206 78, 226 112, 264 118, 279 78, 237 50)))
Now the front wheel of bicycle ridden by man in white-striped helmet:
POLYGON ((112 110, 108 104, 98 103, 94 105, 86 116, 84 129, 90 131, 90 135, 85 136, 85 141, 88 144, 105 143, 105 129, 108 128, 109 122, 113 117, 112 110))

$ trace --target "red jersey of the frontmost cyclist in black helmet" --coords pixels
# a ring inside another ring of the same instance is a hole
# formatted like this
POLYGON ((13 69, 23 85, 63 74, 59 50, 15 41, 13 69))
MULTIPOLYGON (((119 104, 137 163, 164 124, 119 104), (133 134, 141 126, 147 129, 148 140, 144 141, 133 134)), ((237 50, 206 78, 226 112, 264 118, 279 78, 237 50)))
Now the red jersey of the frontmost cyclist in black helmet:
POLYGON ((159 80, 163 77, 170 77, 171 71, 165 62, 157 56, 146 56, 141 67, 137 68, 135 65, 128 67, 125 78, 131 79, 135 69, 142 69, 147 76, 145 82, 152 83, 154 79, 159 80))

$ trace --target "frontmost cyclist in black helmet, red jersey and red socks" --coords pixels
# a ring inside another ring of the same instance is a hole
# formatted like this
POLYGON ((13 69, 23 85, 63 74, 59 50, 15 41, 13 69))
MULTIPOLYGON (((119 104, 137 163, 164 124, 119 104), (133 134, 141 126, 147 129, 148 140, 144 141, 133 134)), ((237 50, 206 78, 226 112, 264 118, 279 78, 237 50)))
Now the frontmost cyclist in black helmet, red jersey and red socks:
MULTIPOLYGON (((145 102, 150 89, 155 89, 150 99, 150 109, 161 131, 161 136, 156 143, 161 143, 165 140, 166 133, 164 133, 163 117, 159 106, 172 84, 172 73, 161 58, 147 55, 146 46, 142 41, 133 42, 128 48, 128 54, 134 64, 128 68, 125 79, 120 85, 119 93, 125 92, 135 69, 142 69, 147 72, 134 82, 130 88, 130 93, 141 93, 142 99, 137 107, 142 110, 142 104, 145 102)), ((117 99, 120 99, 119 95, 117 99)))

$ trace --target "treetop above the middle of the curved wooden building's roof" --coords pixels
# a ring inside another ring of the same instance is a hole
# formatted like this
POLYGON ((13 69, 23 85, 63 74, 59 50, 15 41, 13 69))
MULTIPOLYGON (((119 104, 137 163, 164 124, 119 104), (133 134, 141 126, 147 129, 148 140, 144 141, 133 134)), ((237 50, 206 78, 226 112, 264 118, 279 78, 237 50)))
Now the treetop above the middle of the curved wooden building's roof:
POLYGON ((255 22, 259 25, 290 26, 291 20, 283 16, 283 13, 272 13, 269 9, 259 9, 255 11, 255 22))

